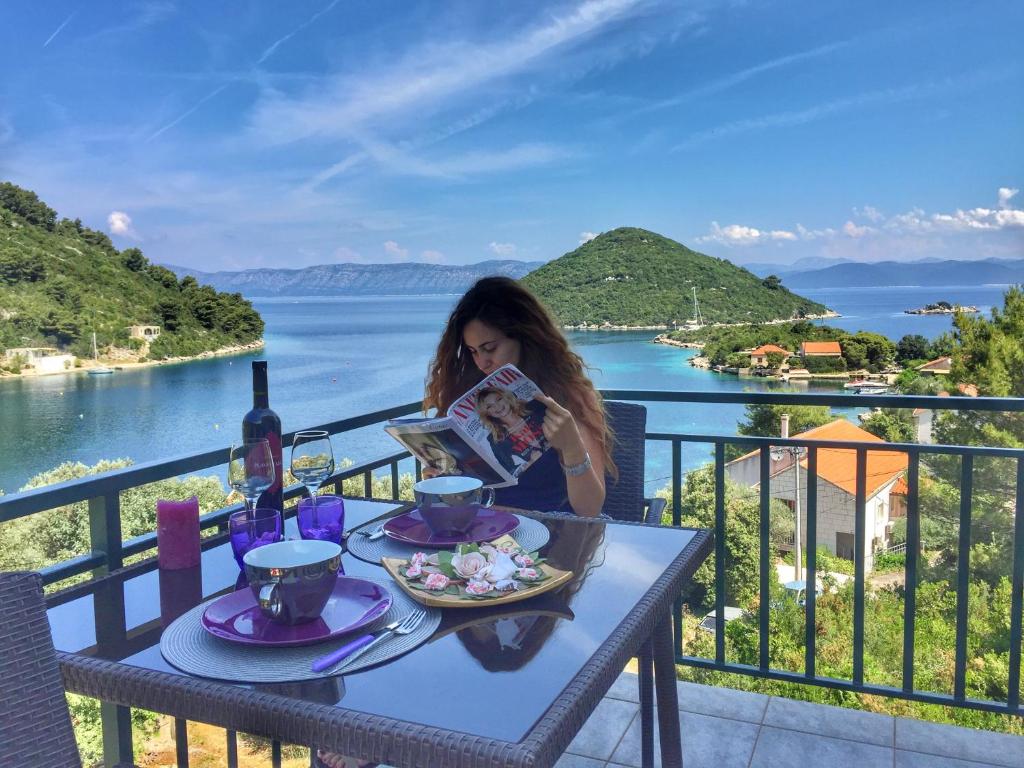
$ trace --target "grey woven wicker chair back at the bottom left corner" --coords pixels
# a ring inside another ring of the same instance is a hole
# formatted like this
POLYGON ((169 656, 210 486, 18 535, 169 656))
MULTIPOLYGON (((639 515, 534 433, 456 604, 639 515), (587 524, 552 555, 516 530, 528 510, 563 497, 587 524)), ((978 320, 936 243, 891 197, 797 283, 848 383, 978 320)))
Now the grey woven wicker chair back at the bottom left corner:
POLYGON ((0 765, 81 766, 38 573, 0 573, 0 765))

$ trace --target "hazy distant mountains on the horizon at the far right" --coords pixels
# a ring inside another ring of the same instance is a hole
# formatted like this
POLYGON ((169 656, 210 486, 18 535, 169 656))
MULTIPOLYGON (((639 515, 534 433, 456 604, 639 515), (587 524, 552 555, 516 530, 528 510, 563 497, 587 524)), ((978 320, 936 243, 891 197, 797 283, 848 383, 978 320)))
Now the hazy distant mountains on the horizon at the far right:
MULTIPOLYGON (((760 273, 760 269, 752 271, 760 273)), ((846 261, 823 269, 791 268, 773 273, 781 278, 787 288, 1008 285, 1024 283, 1024 259, 846 261)))

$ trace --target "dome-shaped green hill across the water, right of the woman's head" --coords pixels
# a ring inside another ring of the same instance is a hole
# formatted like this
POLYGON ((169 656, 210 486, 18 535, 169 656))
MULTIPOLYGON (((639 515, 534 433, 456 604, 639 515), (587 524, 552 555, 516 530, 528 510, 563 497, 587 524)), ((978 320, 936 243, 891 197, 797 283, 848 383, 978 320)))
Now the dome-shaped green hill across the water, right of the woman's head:
POLYGON ((635 227, 600 234, 522 283, 571 326, 683 325, 693 319, 693 288, 705 323, 764 323, 828 311, 777 279, 762 280, 635 227))

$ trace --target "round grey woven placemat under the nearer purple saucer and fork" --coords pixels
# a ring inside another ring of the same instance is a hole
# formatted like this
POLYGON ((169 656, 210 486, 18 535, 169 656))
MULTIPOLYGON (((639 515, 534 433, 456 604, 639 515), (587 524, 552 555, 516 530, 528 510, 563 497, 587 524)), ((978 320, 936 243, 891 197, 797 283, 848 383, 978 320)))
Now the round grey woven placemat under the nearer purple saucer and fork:
POLYGON ((359 577, 386 588, 392 597, 391 608, 369 627, 354 635, 342 635, 329 642, 297 647, 260 647, 232 643, 214 637, 203 629, 200 620, 213 600, 197 605, 171 624, 160 638, 160 652, 167 662, 182 672, 199 677, 230 680, 236 683, 286 683, 317 680, 372 667, 399 656, 426 642, 441 623, 437 608, 420 605, 398 589, 389 579, 359 577), (383 628, 413 610, 425 610, 426 617, 408 635, 392 635, 349 664, 342 663, 328 672, 312 672, 314 658, 340 648, 354 637, 383 628))

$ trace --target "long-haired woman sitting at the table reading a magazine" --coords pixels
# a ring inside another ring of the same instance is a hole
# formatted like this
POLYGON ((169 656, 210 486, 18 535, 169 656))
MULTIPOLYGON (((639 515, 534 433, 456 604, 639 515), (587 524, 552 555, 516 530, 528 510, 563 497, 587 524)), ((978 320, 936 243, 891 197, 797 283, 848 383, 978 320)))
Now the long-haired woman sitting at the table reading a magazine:
POLYGON ((444 412, 510 362, 544 392, 537 397, 547 407, 542 429, 554 450, 530 465, 517 485, 498 488, 496 503, 599 514, 605 472, 617 476, 601 395, 551 315, 516 281, 484 278, 456 304, 430 364, 424 410, 444 412))

